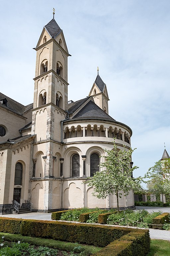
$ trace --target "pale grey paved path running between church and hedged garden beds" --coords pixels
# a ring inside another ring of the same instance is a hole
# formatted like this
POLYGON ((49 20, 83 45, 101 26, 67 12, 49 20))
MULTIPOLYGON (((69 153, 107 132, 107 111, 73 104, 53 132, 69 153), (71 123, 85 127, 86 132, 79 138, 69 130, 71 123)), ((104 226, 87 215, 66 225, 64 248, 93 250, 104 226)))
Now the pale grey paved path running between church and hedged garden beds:
MULTIPOLYGON (((170 207, 149 207, 149 206, 136 206, 136 210, 147 210, 148 212, 168 212, 170 213, 170 207)), ((51 220, 51 213, 24 213, 24 214, 7 214, 0 215, 0 217, 6 218, 21 218, 21 219, 32 219, 32 220, 51 220)), ((134 228, 134 227, 132 227, 134 228)), ((161 239, 170 241, 170 231, 160 229, 149 229, 151 239, 161 239)))

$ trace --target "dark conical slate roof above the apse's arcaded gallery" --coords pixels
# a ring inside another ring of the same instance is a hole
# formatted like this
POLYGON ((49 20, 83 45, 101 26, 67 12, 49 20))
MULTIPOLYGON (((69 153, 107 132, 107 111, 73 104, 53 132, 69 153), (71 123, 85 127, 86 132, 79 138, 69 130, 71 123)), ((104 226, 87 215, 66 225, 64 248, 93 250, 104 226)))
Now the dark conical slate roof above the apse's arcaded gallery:
POLYGON ((98 105, 92 100, 88 101, 87 104, 75 115, 73 119, 98 119, 115 121, 110 115, 103 111, 98 105))

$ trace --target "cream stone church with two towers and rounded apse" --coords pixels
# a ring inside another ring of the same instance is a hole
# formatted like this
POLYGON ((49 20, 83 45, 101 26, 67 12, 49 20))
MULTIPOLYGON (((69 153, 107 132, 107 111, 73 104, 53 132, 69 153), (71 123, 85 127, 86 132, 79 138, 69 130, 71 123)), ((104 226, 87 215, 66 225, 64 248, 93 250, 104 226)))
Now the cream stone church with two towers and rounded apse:
MULTIPOLYGON (((35 50, 34 103, 24 106, 0 93, 0 214, 11 213, 14 200, 42 212, 116 207, 114 195, 98 199, 85 181, 99 171, 113 138, 118 149, 130 148, 131 129, 108 114, 99 74, 88 97, 68 101, 69 53, 54 17, 35 50)), ((119 201, 134 206, 132 191, 119 201)))

